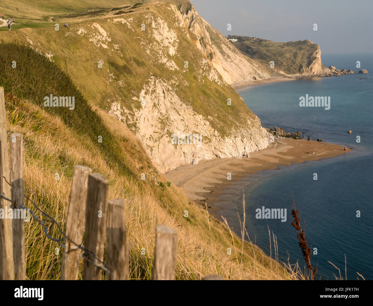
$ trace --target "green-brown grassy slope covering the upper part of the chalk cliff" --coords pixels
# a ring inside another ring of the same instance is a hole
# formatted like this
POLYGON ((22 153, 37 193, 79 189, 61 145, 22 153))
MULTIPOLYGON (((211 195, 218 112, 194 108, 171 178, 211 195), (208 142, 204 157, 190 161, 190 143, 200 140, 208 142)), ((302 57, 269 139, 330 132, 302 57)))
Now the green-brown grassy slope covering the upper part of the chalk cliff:
MULTIPOLYGON (((75 18, 56 16, 53 18, 56 21, 44 24, 43 28, 22 28, 4 32, 0 37, 5 42, 31 43, 47 53, 68 72, 90 102, 101 109, 110 109, 114 101, 129 110, 139 108, 140 103, 134 97, 138 98, 144 84, 155 76, 177 88, 176 94, 183 103, 191 105, 204 117, 210 117, 211 126, 222 136, 229 135, 232 127, 247 126, 250 118, 255 117, 221 76, 219 82, 209 79, 212 68, 195 44, 186 39, 187 33, 193 34, 173 26, 179 21, 167 3, 112 9, 75 18), (119 15, 114 15, 118 12, 119 15), (120 18, 132 18, 131 24, 114 21, 120 18), (150 24, 158 18, 162 21, 151 28, 150 24), (162 25, 163 21, 167 28, 162 25), (59 31, 55 31, 55 22, 60 24, 59 31), (69 28, 63 27, 65 22, 70 23, 69 28), (147 27, 142 31, 144 22, 147 27), (99 33, 96 24, 104 29, 106 36, 99 33), (164 49, 164 41, 156 40, 157 29, 175 32, 178 37, 178 41, 173 42, 177 44, 175 55, 164 49), (102 68, 98 68, 98 61, 103 62, 102 68), (172 70, 163 61, 175 63, 177 68, 172 70), (185 61, 189 63, 188 69, 184 68, 185 61), (228 98, 233 101, 231 106, 227 105, 228 98)), ((131 129, 136 131, 137 127, 131 126, 131 129)))

